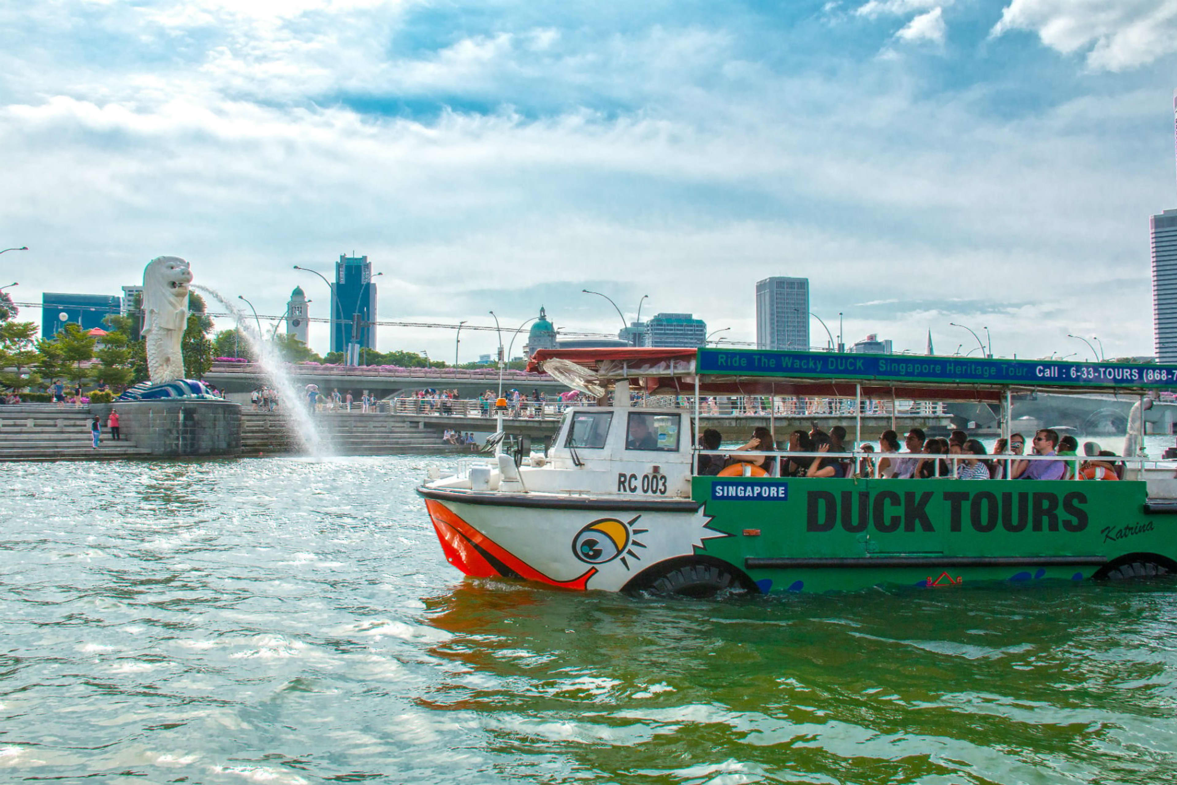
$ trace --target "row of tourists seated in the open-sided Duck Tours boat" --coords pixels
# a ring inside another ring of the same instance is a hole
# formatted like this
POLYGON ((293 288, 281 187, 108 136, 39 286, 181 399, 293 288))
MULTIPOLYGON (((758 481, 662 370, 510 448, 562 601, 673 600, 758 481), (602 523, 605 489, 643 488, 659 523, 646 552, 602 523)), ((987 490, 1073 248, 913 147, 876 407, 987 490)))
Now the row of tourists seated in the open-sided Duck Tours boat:
MULTIPOLYGON (((949 438, 926 437, 922 428, 911 428, 904 439, 905 452, 900 452, 899 434, 884 431, 879 437, 879 453, 876 457, 873 445, 863 445, 860 452, 867 454, 858 459, 857 465, 845 446, 846 430, 836 425, 826 433, 813 425, 810 431, 797 430, 789 434, 787 451, 791 453, 822 453, 819 455, 783 455, 777 471, 777 455, 772 434, 769 428, 758 427, 752 438, 736 447, 726 455, 698 457, 698 474, 719 474, 732 466, 751 464, 764 473, 779 477, 879 477, 895 479, 933 479, 956 478, 962 480, 1004 479, 1006 472, 1010 479, 1023 480, 1064 480, 1075 479, 1076 461, 1065 460, 1075 457, 1078 441, 1075 437, 1064 435, 1050 428, 1037 431, 1031 441, 1033 455, 1044 460, 1029 458, 1009 459, 1011 455, 1024 455, 1026 439, 1020 433, 1011 434, 1009 440, 998 439, 990 453, 977 439, 969 438, 964 431, 953 431, 949 438), (1003 460, 1002 457, 1008 459, 1003 460), (1058 457, 1058 460, 1045 458, 1058 457)), ((718 451, 722 435, 714 428, 707 428, 699 437, 699 447, 706 451, 718 451)), ((1080 479, 1117 480, 1122 478, 1123 467, 1110 460, 1113 453, 1099 451, 1099 454, 1083 461, 1078 466, 1080 479)), ((731 473, 731 472, 727 472, 731 473)), ((762 473, 762 472, 756 472, 762 473)))

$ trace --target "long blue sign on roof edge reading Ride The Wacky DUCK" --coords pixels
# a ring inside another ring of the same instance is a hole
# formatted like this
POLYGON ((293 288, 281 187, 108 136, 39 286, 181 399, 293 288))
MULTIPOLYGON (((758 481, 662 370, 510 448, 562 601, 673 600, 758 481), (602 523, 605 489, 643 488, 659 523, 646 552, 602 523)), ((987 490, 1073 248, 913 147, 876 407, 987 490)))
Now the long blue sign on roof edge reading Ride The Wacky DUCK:
POLYGON ((1177 365, 986 360, 918 354, 699 350, 699 372, 734 377, 935 381, 1026 387, 1177 387, 1177 365))

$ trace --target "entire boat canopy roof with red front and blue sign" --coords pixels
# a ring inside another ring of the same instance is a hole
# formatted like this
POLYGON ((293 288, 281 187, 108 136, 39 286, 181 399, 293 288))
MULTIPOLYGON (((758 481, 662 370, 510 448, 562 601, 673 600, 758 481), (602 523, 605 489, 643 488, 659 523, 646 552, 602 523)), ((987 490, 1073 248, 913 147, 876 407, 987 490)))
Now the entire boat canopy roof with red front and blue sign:
POLYGON ((1006 360, 753 348, 541 348, 528 371, 576 388, 639 381, 650 394, 998 401, 1008 390, 1146 394, 1177 387, 1177 365, 1006 360), (554 360, 554 362, 553 362, 554 360))

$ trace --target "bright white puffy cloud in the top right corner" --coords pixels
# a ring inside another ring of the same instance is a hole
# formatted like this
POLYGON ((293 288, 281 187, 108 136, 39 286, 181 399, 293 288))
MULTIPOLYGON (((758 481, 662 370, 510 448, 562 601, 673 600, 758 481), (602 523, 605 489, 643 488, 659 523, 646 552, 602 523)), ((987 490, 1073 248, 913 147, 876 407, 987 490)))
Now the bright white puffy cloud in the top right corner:
POLYGON ((992 35, 1036 33, 1092 71, 1128 71, 1177 52, 1177 0, 1012 0, 992 35))

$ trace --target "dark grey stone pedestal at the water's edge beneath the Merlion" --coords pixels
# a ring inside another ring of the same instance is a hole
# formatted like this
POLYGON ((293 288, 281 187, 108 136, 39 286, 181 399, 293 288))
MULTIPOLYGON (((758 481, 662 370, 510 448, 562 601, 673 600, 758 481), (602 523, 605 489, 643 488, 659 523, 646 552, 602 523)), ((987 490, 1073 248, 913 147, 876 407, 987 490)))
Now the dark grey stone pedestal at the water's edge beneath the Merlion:
POLYGON ((119 427, 152 455, 237 455, 241 452, 241 405, 201 398, 164 398, 91 404, 102 418, 119 411, 119 427))

